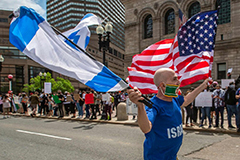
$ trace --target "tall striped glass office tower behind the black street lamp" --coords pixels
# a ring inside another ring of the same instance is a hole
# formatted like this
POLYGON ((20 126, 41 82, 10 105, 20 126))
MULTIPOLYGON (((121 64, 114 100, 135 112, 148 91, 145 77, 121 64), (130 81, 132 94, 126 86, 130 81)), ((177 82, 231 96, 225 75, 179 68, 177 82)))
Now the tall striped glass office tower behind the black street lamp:
MULTIPOLYGON (((47 21, 61 31, 75 27, 87 13, 105 20, 103 25, 112 22, 111 42, 124 50, 125 8, 120 0, 47 0, 47 21)), ((91 33, 96 27, 90 27, 91 33)))

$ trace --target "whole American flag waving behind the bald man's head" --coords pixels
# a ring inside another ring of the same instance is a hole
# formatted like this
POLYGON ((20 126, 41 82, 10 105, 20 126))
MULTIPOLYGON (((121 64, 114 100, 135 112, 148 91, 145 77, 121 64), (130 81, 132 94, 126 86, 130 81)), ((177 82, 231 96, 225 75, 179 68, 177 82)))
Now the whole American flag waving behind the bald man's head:
POLYGON ((211 76, 217 11, 196 14, 173 39, 159 41, 135 55, 128 67, 128 81, 143 94, 157 93, 153 75, 159 68, 172 68, 181 87, 211 76))

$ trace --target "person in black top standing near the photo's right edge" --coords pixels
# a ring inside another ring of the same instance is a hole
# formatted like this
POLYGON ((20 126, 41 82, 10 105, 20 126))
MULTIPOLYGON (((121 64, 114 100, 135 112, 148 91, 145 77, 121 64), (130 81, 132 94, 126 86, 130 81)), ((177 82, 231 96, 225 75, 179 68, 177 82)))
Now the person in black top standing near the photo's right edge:
POLYGON ((229 87, 225 93, 225 103, 227 106, 227 114, 228 114, 228 128, 229 129, 233 129, 235 128, 232 125, 232 115, 235 114, 235 121, 236 121, 236 126, 239 128, 239 124, 238 124, 238 112, 237 112, 237 99, 235 97, 235 84, 234 82, 230 82, 229 83, 229 87))

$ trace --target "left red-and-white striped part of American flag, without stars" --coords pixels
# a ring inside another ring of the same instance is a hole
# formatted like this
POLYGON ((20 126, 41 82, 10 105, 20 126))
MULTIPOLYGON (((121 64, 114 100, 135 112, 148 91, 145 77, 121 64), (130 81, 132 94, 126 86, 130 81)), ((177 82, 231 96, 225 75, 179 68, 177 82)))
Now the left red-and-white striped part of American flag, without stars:
POLYGON ((128 67, 129 84, 138 87, 143 94, 157 93, 157 87, 153 82, 155 71, 159 68, 174 69, 173 57, 169 54, 172 43, 173 39, 165 39, 135 55, 131 67, 128 67))

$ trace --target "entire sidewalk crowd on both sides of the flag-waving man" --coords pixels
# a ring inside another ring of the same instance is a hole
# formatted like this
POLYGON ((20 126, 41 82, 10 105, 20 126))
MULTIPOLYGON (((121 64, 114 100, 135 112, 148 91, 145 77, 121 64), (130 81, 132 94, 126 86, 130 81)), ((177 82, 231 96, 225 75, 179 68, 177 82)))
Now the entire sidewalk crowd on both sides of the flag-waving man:
MULTIPOLYGON (((194 90, 191 87, 185 96, 194 90)), ((196 106, 195 101, 182 108, 182 122, 186 127, 200 124, 203 127, 224 128, 224 111, 227 112, 228 128, 238 128, 240 132, 240 88, 236 91, 234 82, 223 90, 221 86, 214 81, 205 91, 212 92, 211 106, 196 106), (235 117, 235 125, 232 125, 232 117, 235 117), (219 118, 221 121, 219 122, 219 118), (199 121, 198 121, 199 120, 199 121)), ((53 116, 59 119, 64 116, 71 118, 97 119, 97 115, 102 115, 101 119, 111 120, 112 113, 117 110, 119 102, 125 102, 127 93, 99 93, 94 90, 80 90, 79 92, 64 94, 59 90, 57 93, 45 94, 34 92, 27 95, 19 93, 17 95, 9 92, 5 95, 0 94, 0 113, 3 118, 8 118, 11 112, 20 112, 21 114, 40 116, 53 116), (28 113, 29 108, 31 113, 28 113), (77 114, 77 115, 76 115, 77 114)), ((116 115, 117 116, 117 112, 116 115)), ((135 118, 135 116, 133 116, 135 118)))

